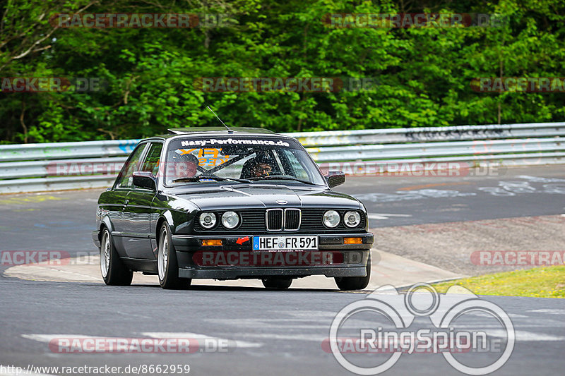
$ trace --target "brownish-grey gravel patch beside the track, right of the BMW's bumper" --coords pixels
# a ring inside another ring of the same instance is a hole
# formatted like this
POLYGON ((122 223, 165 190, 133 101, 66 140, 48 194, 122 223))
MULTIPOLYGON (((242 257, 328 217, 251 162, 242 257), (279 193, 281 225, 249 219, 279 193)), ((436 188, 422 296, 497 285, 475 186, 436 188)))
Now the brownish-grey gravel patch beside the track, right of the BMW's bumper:
POLYGON ((535 263, 548 255, 550 262, 562 263, 565 256, 563 215, 381 227, 371 232, 379 250, 470 276, 529 269, 537 266, 531 260, 535 263))

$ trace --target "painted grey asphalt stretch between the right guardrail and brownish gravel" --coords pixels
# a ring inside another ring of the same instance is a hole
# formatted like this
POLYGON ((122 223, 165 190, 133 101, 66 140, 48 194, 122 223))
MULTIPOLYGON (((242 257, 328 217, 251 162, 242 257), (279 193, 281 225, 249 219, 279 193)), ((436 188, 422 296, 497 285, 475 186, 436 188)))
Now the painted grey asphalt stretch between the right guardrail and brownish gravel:
POLYGON ((565 213, 563 165, 469 172, 354 177, 343 191, 364 202, 372 228, 565 213), (387 219, 374 219, 377 213, 387 219))

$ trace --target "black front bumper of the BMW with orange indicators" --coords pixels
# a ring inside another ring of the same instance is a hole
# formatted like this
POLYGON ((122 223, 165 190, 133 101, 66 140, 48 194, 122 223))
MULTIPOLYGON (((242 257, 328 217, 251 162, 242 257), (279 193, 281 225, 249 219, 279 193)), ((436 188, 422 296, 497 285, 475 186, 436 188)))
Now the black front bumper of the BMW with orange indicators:
MULTIPOLYGON (((302 235, 302 234, 301 234, 302 235)), ((172 236, 179 277, 261 279, 262 277, 365 277, 374 236, 318 235, 318 250, 252 250, 253 236, 172 236), (361 238, 345 244, 344 238, 361 238), (221 246, 204 246, 205 239, 221 239, 221 246)))

